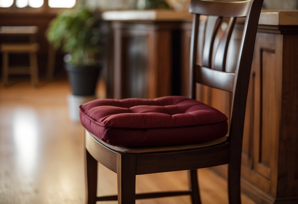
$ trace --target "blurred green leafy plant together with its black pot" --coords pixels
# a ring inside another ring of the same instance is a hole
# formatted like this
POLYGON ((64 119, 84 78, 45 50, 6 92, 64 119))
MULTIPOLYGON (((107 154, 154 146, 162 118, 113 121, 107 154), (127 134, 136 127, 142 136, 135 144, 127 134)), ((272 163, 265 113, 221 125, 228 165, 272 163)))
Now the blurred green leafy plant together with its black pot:
POLYGON ((99 19, 85 5, 64 10, 49 24, 46 37, 56 49, 68 53, 64 57, 74 95, 94 95, 100 65, 99 19))

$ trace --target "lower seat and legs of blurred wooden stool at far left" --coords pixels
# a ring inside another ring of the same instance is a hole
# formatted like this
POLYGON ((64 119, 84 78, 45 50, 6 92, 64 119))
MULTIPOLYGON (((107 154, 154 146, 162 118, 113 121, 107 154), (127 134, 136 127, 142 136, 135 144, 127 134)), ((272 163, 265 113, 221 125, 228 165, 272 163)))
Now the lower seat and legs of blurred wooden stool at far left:
POLYGON ((30 74, 32 85, 35 87, 38 85, 38 66, 37 66, 37 54, 39 45, 38 43, 27 43, 27 44, 12 44, 3 43, 1 45, 2 55, 2 78, 3 85, 8 85, 9 74, 30 74), (27 53, 30 57, 30 66, 9 66, 9 54, 15 53, 27 53))

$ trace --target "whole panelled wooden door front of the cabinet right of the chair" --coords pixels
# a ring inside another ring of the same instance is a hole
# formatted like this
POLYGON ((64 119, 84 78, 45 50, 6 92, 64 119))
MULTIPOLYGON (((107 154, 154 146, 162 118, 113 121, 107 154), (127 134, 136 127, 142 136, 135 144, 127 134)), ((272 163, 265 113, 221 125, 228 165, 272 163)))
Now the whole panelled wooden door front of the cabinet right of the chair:
POLYGON ((278 139, 280 103, 278 86, 281 78, 278 35, 258 33, 255 45, 252 77, 246 107, 243 137, 243 177, 267 193, 274 192, 275 143, 278 139))

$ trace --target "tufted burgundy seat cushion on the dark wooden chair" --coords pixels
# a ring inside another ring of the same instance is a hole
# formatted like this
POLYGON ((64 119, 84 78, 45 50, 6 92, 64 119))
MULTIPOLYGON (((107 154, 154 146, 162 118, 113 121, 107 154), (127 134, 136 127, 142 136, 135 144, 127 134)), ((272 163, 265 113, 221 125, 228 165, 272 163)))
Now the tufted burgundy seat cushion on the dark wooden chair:
POLYGON ((223 113, 182 96, 98 99, 80 106, 80 120, 104 142, 126 147, 206 142, 228 131, 223 113))

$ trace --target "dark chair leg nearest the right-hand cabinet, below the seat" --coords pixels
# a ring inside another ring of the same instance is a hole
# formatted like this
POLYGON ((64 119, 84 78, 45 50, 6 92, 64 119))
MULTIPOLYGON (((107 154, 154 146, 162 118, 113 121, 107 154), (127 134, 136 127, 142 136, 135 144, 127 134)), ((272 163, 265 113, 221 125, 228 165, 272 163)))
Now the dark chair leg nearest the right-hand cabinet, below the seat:
POLYGON ((240 162, 230 162, 228 169, 229 204, 241 204, 240 162))

